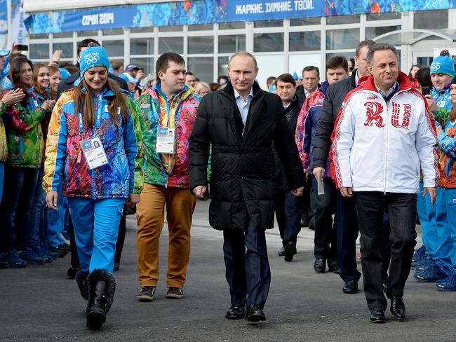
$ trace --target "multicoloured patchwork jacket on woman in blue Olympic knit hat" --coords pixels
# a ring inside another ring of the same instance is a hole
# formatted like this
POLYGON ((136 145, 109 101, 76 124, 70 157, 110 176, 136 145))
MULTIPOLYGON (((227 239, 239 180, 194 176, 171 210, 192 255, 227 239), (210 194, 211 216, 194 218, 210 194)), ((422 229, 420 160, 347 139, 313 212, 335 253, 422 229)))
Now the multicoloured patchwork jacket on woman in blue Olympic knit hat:
MULTIPOLYGON (((79 129, 79 113, 74 112, 74 90, 67 90, 55 104, 49 124, 44 164, 43 189, 58 191, 63 182, 67 197, 91 199, 128 198, 129 193, 141 193, 142 174, 142 118, 135 104, 126 97, 130 117, 119 127, 109 116, 109 103, 114 97, 104 90, 100 128, 79 129), (81 151, 81 140, 98 135, 105 149, 108 163, 89 170, 81 151)), ((84 95, 81 95, 81 99, 84 95)), ((97 100, 95 102, 95 112, 97 100)))

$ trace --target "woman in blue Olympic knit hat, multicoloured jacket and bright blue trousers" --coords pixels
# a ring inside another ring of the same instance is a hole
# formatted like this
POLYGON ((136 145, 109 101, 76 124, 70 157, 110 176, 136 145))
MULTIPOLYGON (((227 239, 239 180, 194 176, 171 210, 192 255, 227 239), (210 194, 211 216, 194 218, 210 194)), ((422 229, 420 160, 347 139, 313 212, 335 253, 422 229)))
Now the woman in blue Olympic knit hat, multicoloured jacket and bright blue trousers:
POLYGON ((46 144, 43 188, 57 209, 58 189, 68 198, 81 271, 81 296, 88 300, 87 327, 98 329, 114 299, 114 251, 126 200, 142 191, 142 121, 133 101, 107 78, 105 48, 81 53, 76 88, 55 104, 46 144))

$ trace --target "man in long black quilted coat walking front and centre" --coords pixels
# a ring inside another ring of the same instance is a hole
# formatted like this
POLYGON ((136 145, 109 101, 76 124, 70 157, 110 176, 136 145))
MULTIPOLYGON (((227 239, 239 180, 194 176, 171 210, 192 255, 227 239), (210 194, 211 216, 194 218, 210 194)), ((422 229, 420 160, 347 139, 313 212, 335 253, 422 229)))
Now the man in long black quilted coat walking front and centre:
POLYGON ((259 322, 266 320, 271 279, 264 231, 274 227, 272 143, 295 196, 302 195, 304 171, 280 98, 255 82, 255 57, 234 54, 228 72, 230 83, 204 96, 198 109, 189 141, 190 189, 203 198, 212 144, 209 223, 223 231, 232 303, 226 317, 259 322))

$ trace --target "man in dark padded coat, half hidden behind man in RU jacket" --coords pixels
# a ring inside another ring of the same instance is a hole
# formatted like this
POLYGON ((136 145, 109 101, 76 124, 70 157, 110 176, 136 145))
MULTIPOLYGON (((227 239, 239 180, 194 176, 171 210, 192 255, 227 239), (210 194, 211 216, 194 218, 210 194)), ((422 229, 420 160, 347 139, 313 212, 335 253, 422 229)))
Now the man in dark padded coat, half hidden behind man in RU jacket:
MULTIPOLYGON (((314 139, 313 173, 316 179, 326 175, 329 150, 331 146, 331 134, 334 123, 339 114, 339 109, 347 94, 358 86, 358 79, 368 75, 366 56, 370 46, 375 41, 361 41, 356 46, 355 69, 349 78, 331 85, 326 90, 323 109, 318 120, 314 139)), ((356 294, 358 281, 361 273, 356 268, 356 239, 358 238, 358 221, 354 201, 344 198, 337 191, 336 225, 337 225, 337 257, 339 259, 340 277, 344 280, 342 292, 356 294)))

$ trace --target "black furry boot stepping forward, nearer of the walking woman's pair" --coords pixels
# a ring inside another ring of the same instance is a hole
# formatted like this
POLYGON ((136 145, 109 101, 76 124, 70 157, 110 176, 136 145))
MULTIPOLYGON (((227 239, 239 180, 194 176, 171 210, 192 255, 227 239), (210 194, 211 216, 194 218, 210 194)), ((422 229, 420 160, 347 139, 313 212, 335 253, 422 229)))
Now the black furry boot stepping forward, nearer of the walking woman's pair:
POLYGON ((100 329, 114 301, 116 277, 106 270, 95 270, 88 275, 87 327, 100 329))

